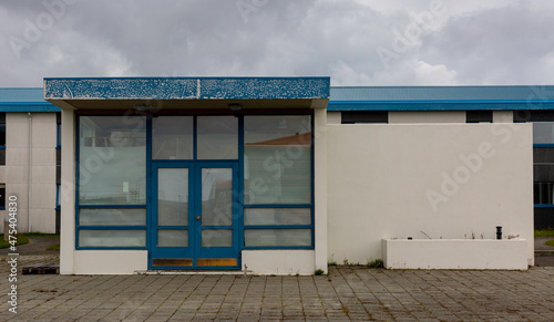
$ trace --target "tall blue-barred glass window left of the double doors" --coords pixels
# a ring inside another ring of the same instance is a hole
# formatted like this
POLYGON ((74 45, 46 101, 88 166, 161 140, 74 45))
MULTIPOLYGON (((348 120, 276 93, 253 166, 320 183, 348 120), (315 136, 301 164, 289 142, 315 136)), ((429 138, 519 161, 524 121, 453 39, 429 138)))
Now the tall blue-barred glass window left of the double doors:
POLYGON ((79 247, 146 247, 146 118, 81 116, 79 129, 79 247))

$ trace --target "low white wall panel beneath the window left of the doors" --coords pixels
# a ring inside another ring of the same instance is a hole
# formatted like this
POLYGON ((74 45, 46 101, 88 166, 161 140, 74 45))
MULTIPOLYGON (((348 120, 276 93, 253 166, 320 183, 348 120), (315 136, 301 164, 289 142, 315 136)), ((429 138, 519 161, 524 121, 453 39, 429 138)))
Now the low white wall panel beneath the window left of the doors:
POLYGON ((132 274, 147 270, 147 250, 75 250, 74 274, 132 274))

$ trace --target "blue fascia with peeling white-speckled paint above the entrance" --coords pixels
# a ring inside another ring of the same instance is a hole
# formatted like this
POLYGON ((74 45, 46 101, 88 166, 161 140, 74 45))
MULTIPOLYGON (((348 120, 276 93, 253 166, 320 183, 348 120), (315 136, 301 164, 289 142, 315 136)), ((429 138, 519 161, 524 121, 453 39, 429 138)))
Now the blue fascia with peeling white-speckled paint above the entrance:
POLYGON ((44 79, 44 100, 329 98, 330 77, 44 79))

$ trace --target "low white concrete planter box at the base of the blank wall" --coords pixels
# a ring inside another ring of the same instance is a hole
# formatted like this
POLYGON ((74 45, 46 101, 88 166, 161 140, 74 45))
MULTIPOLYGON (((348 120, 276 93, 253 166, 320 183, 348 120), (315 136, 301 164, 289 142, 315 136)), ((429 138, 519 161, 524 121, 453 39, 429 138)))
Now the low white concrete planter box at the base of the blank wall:
POLYGON ((526 270, 525 239, 382 239, 387 269, 526 270))

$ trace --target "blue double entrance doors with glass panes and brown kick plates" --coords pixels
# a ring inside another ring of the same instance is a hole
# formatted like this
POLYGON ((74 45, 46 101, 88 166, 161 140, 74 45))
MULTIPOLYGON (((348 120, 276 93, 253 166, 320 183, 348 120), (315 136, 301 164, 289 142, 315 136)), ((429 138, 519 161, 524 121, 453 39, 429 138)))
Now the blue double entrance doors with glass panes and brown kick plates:
POLYGON ((237 162, 153 163, 151 269, 240 268, 237 162))

